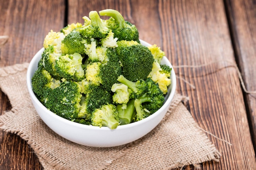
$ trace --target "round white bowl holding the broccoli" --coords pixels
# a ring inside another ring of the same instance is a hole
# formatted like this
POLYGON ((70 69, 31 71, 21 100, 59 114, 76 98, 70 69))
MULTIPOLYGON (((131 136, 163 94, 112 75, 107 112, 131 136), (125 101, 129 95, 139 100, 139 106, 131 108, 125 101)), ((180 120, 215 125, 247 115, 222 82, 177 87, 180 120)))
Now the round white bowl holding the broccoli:
MULTIPOLYGON (((142 40, 141 44, 150 46, 150 44, 142 40)), ((49 126, 50 129, 65 139, 77 144, 93 147, 113 147, 128 144, 143 137, 153 130, 155 126, 157 126, 157 124, 159 124, 159 122, 162 120, 175 94, 176 76, 174 70, 172 69, 171 85, 168 88, 168 93, 165 96, 164 105, 158 111, 143 120, 117 126, 117 129, 114 130, 109 129, 108 127, 100 128, 98 126, 84 125, 66 120, 43 106, 32 91, 31 78, 34 72, 37 70, 38 61, 41 58, 43 50, 44 49, 42 48, 36 53, 27 70, 27 87, 31 100, 38 115, 45 122, 45 124, 49 126)), ((166 57, 162 59, 162 64, 172 67, 171 63, 166 57)))

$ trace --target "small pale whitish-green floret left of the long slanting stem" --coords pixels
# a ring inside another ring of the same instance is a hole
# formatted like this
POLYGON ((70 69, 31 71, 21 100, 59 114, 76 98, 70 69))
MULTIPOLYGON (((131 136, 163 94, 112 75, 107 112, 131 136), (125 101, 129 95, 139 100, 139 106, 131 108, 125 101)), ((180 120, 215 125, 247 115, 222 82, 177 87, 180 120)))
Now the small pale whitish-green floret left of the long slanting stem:
POLYGON ((111 87, 113 94, 113 102, 116 104, 127 104, 130 100, 128 86, 122 83, 115 83, 111 87))

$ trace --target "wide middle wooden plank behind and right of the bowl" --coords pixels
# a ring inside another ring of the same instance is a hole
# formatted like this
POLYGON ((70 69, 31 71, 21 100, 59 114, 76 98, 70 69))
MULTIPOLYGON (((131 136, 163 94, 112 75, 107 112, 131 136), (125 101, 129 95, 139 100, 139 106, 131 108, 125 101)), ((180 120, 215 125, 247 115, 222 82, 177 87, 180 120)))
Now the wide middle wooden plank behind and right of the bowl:
POLYGON ((86 5, 76 2, 69 1, 68 21, 82 22, 79 18, 92 10, 117 9, 137 26, 140 38, 159 45, 174 66, 202 65, 175 69, 177 76, 195 86, 193 89, 177 79, 177 91, 191 98, 188 108, 192 116, 202 129, 213 134, 208 136, 222 153, 219 163, 205 162, 202 167, 256 169, 222 0, 108 0, 100 6, 97 0, 86 5))

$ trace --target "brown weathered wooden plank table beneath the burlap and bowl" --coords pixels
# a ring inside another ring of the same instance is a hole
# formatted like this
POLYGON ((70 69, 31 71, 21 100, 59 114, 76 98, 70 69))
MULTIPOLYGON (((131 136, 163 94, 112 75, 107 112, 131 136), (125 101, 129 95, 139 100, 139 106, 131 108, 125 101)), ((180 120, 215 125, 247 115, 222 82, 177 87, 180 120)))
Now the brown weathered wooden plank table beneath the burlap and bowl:
MULTIPOLYGON (((175 67, 177 92, 190 97, 187 108, 222 154, 202 169, 256 169, 256 94, 246 91, 256 90, 255 0, 0 0, 0 35, 9 36, 0 67, 30 62, 51 29, 108 8, 135 24, 140 39, 160 46, 175 67)), ((9 109, 0 91, 0 114, 9 109)), ((43 168, 24 140, 0 130, 0 169, 43 168)))

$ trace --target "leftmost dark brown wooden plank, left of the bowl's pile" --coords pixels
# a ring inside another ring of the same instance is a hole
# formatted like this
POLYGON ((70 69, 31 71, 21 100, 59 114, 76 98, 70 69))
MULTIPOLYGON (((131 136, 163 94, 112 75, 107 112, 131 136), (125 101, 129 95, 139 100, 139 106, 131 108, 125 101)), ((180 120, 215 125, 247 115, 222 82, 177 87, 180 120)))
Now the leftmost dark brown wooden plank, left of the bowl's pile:
MULTIPOLYGON (((29 62, 43 47, 45 35, 64 26, 65 0, 0 0, 0 35, 9 39, 0 49, 0 67, 29 62)), ((11 109, 0 91, 0 113, 11 109)), ((0 130, 0 169, 40 170, 38 158, 28 144, 15 134, 0 130)))

